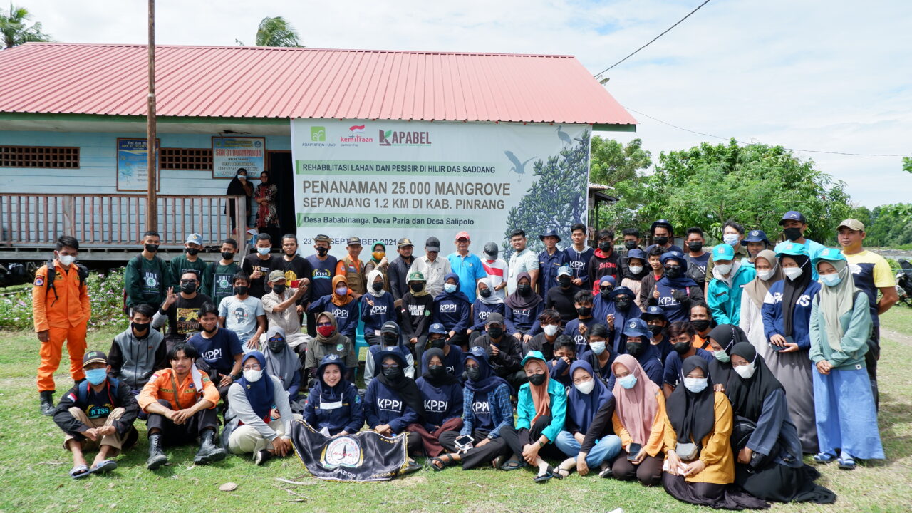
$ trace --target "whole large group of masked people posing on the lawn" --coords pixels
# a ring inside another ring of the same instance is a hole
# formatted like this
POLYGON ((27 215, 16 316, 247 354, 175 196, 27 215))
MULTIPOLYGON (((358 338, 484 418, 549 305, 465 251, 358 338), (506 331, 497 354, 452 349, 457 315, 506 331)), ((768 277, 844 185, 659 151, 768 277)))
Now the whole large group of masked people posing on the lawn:
POLYGON ((780 225, 773 245, 730 221, 705 250, 699 227, 684 250, 666 220, 648 237, 599 230, 595 249, 574 225, 565 249, 543 230, 537 255, 516 230, 507 261, 495 242, 473 254, 467 232, 447 257, 437 237, 421 257, 404 237, 395 259, 376 243, 368 261, 358 237, 334 257, 318 235, 302 257, 296 236, 261 233, 241 262, 230 238, 203 261, 192 234, 166 263, 150 231, 125 273, 130 327, 107 354, 85 353, 87 273, 62 236, 33 293, 41 411, 65 432, 73 478, 115 468, 137 419, 150 469, 185 444, 197 465, 263 465, 293 452, 303 420, 402 435, 406 471, 424 456, 434 471, 528 466, 537 483, 593 472, 713 508, 832 502, 803 455, 844 469, 885 457, 878 315, 896 293, 859 221, 839 225, 841 249, 804 238, 798 212, 780 225), (65 341, 74 386, 55 406, 65 341))

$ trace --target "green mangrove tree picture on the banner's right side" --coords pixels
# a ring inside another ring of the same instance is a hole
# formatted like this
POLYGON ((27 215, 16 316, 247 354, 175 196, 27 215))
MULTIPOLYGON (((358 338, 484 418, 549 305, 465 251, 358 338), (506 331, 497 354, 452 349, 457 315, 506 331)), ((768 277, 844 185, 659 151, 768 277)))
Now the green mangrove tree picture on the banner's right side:
MULTIPOLYGON (((566 134, 564 134, 566 135, 566 134)), ((561 138, 564 141, 564 138, 561 138)), ((586 224, 586 192, 589 182, 589 131, 574 138, 573 145, 547 158, 536 161, 532 176, 535 181, 523 195, 519 206, 510 209, 506 231, 503 233, 504 259, 513 254, 510 233, 523 229, 529 239, 529 249, 544 250, 538 235, 554 228, 561 237, 561 246, 569 244, 570 226, 586 224)), ((511 159, 512 160, 512 159, 511 159)))

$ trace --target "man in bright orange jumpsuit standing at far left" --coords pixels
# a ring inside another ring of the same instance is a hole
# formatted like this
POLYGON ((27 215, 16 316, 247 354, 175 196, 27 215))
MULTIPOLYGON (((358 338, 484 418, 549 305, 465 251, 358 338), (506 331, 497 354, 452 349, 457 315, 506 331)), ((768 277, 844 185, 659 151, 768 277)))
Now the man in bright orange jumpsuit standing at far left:
POLYGON ((86 329, 91 307, 88 304, 86 277, 88 269, 75 264, 79 241, 71 236, 57 238, 54 260, 35 273, 32 289, 32 315, 35 332, 41 341, 41 364, 38 365, 38 393, 41 413, 54 413, 54 372, 60 366, 63 342, 67 341, 69 374, 74 382, 86 378, 82 355, 86 352, 86 329), (48 271, 52 267, 53 271, 48 271), (53 279, 51 279, 53 277, 53 279))

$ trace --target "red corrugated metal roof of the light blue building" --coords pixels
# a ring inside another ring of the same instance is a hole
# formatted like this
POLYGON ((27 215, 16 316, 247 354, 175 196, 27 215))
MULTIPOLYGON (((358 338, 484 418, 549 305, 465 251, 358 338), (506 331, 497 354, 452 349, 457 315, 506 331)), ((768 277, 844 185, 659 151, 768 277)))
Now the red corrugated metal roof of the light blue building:
MULTIPOLYGON (((572 56, 156 47, 159 116, 635 124, 572 56)), ((0 112, 145 115, 144 45, 0 51, 0 112)))

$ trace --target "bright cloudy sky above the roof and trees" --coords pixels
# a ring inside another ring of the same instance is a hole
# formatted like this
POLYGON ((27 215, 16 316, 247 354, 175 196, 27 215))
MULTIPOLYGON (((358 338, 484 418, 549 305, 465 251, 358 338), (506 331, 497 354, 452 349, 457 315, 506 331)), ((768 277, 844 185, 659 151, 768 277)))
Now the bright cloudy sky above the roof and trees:
MULTIPOLYGON (((16 0, 57 41, 145 43, 146 2, 16 0)), ((700 0, 159 0, 160 44, 254 42, 285 16, 307 47, 570 54, 597 73, 700 0)), ((4 5, 5 6, 5 5, 4 5)), ((713 0, 606 74, 625 107, 693 131, 786 148, 912 153, 912 2, 713 0)), ((631 112, 653 152, 705 136, 631 112)), ((857 204, 912 202, 900 157, 798 152, 848 185, 857 204)))

